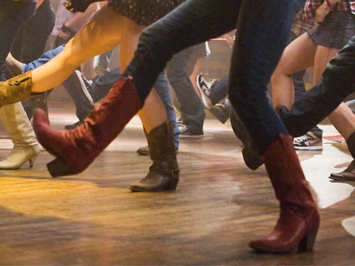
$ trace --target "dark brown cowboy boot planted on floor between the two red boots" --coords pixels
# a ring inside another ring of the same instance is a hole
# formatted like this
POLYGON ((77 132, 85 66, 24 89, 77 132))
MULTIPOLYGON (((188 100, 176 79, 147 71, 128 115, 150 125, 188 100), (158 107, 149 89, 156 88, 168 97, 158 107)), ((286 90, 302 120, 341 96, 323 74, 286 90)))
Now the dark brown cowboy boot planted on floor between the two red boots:
MULTIPOLYGON (((144 130, 144 133, 146 131, 144 130)), ((131 184, 132 191, 158 192, 175 190, 179 182, 179 165, 176 160, 173 124, 164 122, 146 133, 153 161, 149 173, 140 182, 131 184)))

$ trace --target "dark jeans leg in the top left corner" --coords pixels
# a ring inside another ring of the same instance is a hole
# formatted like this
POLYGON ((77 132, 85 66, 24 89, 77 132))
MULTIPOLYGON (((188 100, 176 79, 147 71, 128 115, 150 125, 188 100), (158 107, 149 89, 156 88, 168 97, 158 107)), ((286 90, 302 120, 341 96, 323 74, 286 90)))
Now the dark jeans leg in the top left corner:
MULTIPOLYGON (((0 5, 0 67, 4 65, 20 27, 28 21, 36 9, 35 3, 1 1, 0 5)), ((5 81, 0 70, 0 81, 5 81)))

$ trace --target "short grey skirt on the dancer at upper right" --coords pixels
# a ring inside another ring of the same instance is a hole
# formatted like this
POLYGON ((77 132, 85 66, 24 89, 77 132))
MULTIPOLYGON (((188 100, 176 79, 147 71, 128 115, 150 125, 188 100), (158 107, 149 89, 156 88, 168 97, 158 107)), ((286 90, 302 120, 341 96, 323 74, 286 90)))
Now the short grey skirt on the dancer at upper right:
POLYGON ((318 45, 342 49, 355 35, 355 15, 348 11, 329 13, 308 35, 318 45))

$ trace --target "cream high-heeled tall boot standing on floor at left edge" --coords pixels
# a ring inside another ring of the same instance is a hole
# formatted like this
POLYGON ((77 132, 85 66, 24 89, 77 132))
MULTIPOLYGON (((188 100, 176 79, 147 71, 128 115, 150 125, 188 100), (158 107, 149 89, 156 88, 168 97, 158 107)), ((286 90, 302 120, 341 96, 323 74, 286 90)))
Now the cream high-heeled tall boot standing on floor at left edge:
POLYGON ((21 102, 1 107, 0 121, 13 142, 10 156, 0 161, 0 169, 15 170, 27 161, 32 168, 40 152, 40 145, 21 102))

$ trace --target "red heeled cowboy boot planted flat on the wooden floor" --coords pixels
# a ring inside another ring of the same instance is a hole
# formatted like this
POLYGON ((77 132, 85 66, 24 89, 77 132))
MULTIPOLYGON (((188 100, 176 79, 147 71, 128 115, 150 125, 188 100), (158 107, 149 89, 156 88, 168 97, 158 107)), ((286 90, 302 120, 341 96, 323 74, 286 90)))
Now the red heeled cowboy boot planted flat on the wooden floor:
POLYGON ((311 251, 320 216, 296 155, 293 138, 280 134, 263 155, 266 170, 280 201, 280 217, 266 237, 249 246, 263 252, 311 251))

